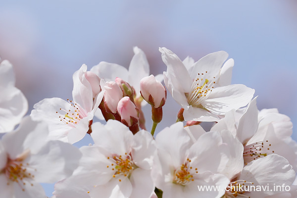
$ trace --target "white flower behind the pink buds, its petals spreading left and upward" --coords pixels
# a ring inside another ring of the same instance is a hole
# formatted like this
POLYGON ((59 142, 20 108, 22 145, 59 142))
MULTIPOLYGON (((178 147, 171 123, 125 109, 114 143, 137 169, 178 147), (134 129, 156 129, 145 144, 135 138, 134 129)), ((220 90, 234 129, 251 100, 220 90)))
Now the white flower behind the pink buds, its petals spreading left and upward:
MULTIPOLYGON (((140 95, 140 81, 142 78, 149 75, 149 65, 146 54, 138 47, 133 48, 134 56, 130 62, 129 69, 125 67, 108 62, 100 62, 98 65, 91 68, 91 72, 97 74, 100 78, 104 78, 105 81, 114 81, 116 77, 128 82, 135 90, 136 99, 141 97, 140 95)), ((163 80, 162 75, 157 75, 156 79, 163 80)), ((142 102, 145 105, 146 102, 142 102)))

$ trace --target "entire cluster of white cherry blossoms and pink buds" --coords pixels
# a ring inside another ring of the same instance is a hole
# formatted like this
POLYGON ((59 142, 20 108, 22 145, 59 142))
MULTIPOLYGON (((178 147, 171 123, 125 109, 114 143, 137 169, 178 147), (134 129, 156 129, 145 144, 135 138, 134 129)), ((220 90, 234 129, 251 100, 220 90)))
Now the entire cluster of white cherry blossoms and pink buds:
POLYGON ((149 75, 146 55, 135 47, 129 69, 100 62, 87 71, 84 64, 73 74, 72 99, 43 99, 28 116, 13 67, 3 60, 1 198, 46 198, 41 183, 55 183, 52 198, 297 198, 290 118, 258 110, 253 89, 231 85, 227 52, 195 62, 159 51, 163 75, 149 75), (176 123, 155 133, 167 92, 181 108, 176 123), (202 122, 213 125, 205 131, 202 122), (72 145, 86 135, 93 145, 72 145), (267 185, 288 188, 242 188, 267 185))

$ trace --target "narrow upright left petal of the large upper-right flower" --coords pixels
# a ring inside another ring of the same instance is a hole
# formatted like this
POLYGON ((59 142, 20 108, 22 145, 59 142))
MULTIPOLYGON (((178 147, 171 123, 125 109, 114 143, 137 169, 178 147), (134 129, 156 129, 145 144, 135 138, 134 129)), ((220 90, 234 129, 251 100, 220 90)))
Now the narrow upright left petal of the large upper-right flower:
POLYGON ((194 78, 190 77, 190 74, 183 62, 169 49, 159 48, 159 51, 162 53, 163 62, 167 65, 167 73, 176 79, 176 83, 182 88, 181 91, 183 93, 190 92, 194 78))

